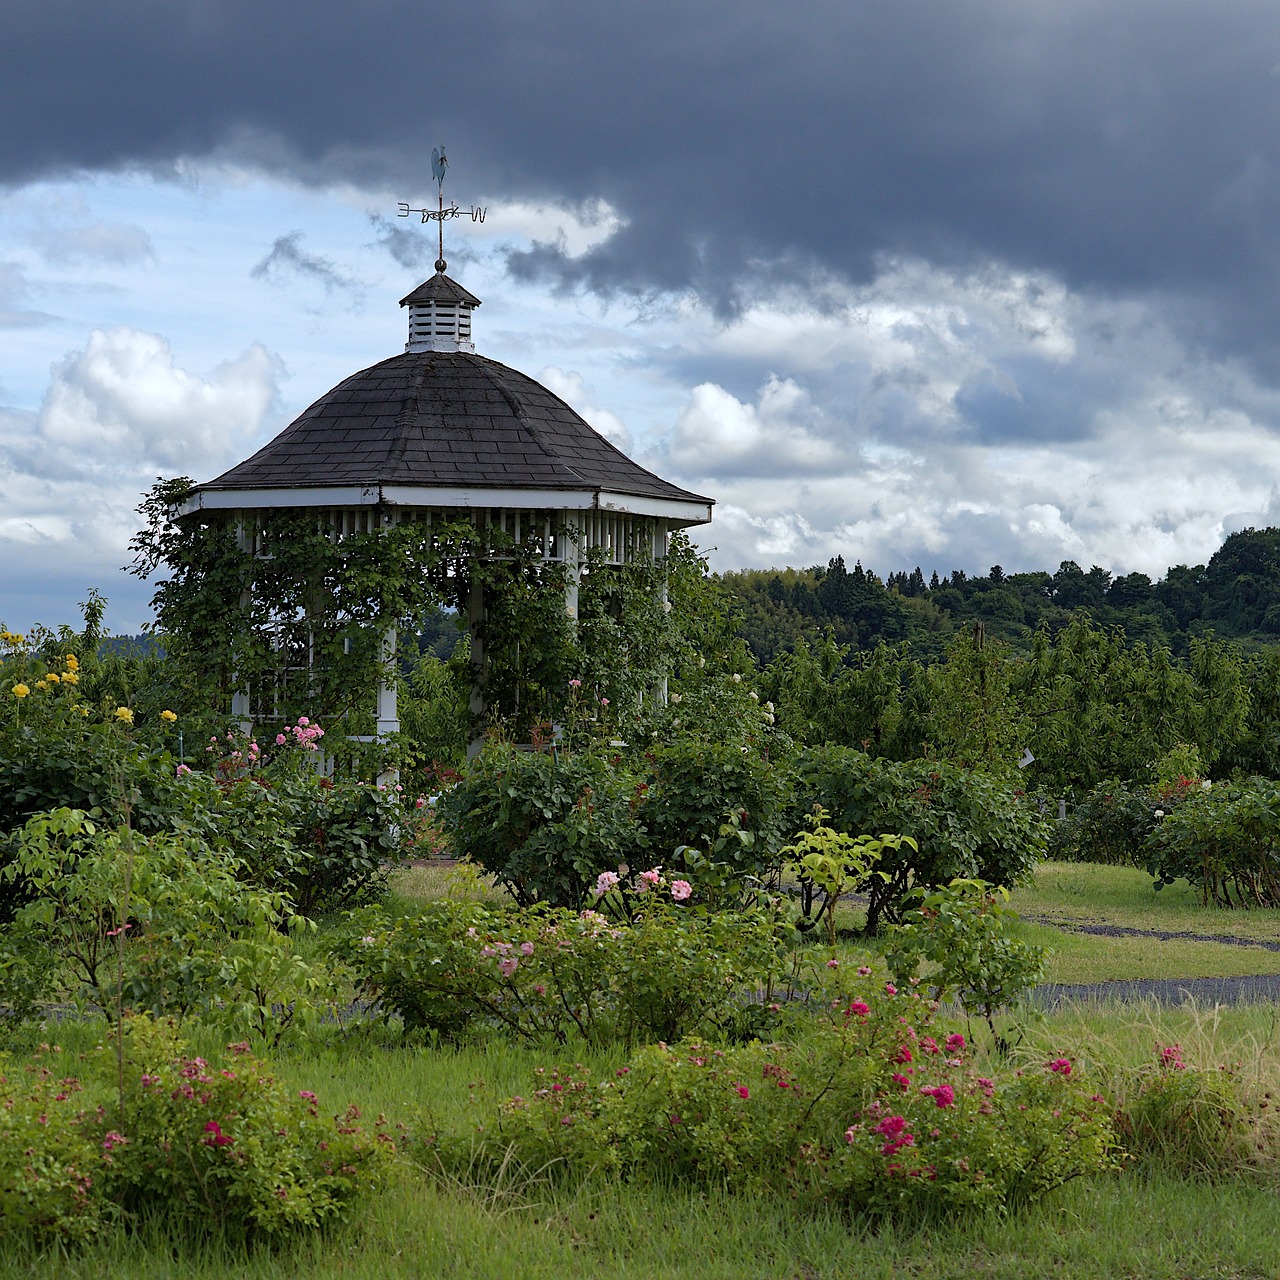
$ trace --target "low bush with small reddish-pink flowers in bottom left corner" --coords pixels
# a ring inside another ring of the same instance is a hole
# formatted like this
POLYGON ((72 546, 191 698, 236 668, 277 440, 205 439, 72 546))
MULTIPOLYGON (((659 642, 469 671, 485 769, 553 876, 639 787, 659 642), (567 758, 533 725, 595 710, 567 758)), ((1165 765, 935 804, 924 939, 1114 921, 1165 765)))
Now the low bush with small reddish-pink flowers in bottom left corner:
POLYGON ((81 1239, 118 1216, 282 1236, 349 1216, 394 1143, 352 1107, 321 1117, 247 1044, 212 1061, 147 1019, 81 1062, 55 1047, 0 1076, 0 1231, 81 1239))

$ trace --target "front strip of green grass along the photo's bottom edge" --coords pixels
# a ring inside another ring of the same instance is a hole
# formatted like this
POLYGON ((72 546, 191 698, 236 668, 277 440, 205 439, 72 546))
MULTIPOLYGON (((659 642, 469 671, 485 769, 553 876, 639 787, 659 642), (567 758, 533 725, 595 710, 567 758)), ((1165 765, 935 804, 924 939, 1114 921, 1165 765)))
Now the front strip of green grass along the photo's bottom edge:
POLYGON ((868 1230, 785 1204, 671 1190, 586 1190, 512 1208, 402 1184, 358 1229, 246 1253, 160 1233, 0 1276, 67 1280, 1189 1280, 1274 1277, 1274 1192, 1117 1178, 1007 1217, 868 1230))

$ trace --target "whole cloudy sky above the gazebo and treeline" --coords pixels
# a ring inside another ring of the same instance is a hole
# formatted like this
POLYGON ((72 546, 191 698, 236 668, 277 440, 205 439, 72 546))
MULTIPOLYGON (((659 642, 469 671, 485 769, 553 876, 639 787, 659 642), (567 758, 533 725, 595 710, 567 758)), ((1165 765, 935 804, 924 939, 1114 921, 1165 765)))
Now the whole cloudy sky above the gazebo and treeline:
POLYGON ((430 189, 477 348, 718 499, 719 568, 1161 575, 1280 524, 1280 8, 12 0, 0 621, 157 476, 402 349, 430 189))

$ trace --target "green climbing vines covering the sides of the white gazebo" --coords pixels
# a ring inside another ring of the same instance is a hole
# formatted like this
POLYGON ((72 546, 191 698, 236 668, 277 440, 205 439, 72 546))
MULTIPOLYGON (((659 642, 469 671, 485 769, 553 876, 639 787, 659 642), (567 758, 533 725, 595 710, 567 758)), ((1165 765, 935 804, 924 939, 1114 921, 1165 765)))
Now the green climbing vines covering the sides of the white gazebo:
MULTIPOLYGON (((335 540, 315 513, 293 509, 261 512, 250 550, 232 511, 179 517, 195 488, 186 476, 151 488, 138 508, 145 527, 131 541, 132 572, 166 575, 152 600, 156 630, 202 673, 211 709, 248 689, 260 719, 323 714, 346 733, 367 735, 371 690, 399 663, 383 637, 390 628, 416 636, 440 608, 465 616, 474 584, 485 594, 477 731, 526 742, 549 732, 566 718, 571 680, 625 722, 673 660, 667 564, 649 556, 618 566, 586 552, 575 623, 568 570, 545 559, 534 538, 517 543, 456 518, 403 520, 335 540)), ((680 536, 672 556, 696 558, 680 536)))

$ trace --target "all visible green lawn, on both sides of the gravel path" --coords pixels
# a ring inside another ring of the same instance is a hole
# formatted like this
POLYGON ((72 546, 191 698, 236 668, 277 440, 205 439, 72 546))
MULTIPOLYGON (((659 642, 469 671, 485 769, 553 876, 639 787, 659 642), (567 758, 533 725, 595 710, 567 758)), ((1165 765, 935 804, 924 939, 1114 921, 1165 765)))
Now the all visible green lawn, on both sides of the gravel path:
MULTIPOLYGON (((440 868, 412 868, 397 879, 397 891, 406 896, 439 896, 445 888, 440 868)), ((1149 877, 1137 870, 1046 864, 1034 884, 1015 893, 1014 905, 1064 925, 1107 923, 1194 934, 1165 942, 1106 938, 1024 922, 1028 937, 1056 951, 1051 980, 1280 972, 1280 952, 1207 941, 1274 937, 1280 913, 1206 910, 1176 888, 1156 895, 1149 877)), ((841 914, 846 927, 856 923, 854 911, 841 914)), ((842 951, 858 954, 850 943, 842 943, 842 951)), ((64 1043, 91 1033, 56 1030, 64 1043)), ((1028 1064, 1066 1055, 1119 1102, 1132 1087, 1133 1070, 1172 1043, 1192 1065, 1230 1064, 1251 1096, 1280 1097, 1280 1010, 1272 1006, 1068 1006, 1033 1021, 1014 1052, 1028 1064)), ((485 1123, 499 1101, 527 1091, 536 1066, 572 1057, 603 1078, 621 1056, 504 1042, 425 1048, 375 1028, 332 1029, 325 1043, 280 1051, 274 1061, 285 1080, 315 1091, 333 1111, 356 1102, 366 1115, 385 1112, 406 1123, 435 1115, 465 1130, 485 1123)), ((113 1231, 67 1253, 33 1253, 9 1242, 0 1251, 0 1280, 1243 1280, 1280 1270, 1277 1179, 1274 1164, 1265 1169, 1212 1181, 1129 1165, 1062 1188, 1029 1210, 874 1224, 835 1211, 805 1212, 786 1199, 618 1185, 590 1176, 571 1185, 536 1170, 511 1170, 498 1185, 467 1185, 466 1179, 435 1176, 424 1153, 398 1170, 358 1221, 314 1239, 246 1251, 218 1236, 143 1228, 113 1231)))

